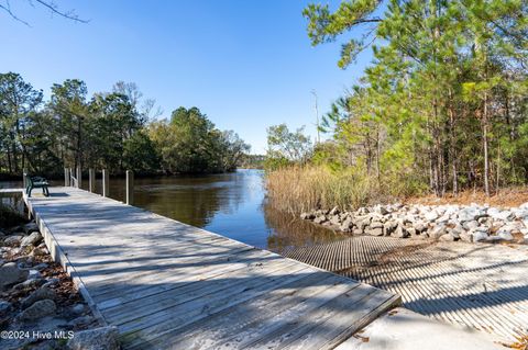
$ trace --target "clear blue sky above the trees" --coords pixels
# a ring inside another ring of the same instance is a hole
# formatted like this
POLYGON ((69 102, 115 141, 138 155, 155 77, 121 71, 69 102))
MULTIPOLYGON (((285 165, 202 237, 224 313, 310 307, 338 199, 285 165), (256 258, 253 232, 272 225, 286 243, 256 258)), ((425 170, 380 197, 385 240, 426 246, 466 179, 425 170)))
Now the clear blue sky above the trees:
POLYGON ((1 71, 15 71, 46 97, 54 82, 86 81, 89 93, 118 80, 135 82, 164 116, 198 106, 262 154, 266 127, 306 125, 315 136, 311 90, 319 111, 350 87, 371 60, 337 67, 339 43, 311 47, 302 9, 310 1, 65 1, 88 24, 11 1, 31 27, 0 12, 1 71))

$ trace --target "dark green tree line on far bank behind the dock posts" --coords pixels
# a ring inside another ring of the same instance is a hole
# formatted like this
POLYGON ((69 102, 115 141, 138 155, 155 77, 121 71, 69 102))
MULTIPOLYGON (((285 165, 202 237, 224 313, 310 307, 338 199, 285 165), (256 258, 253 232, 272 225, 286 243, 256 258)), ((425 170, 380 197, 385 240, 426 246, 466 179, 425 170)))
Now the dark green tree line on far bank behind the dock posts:
POLYGON ((53 176, 78 166, 114 174, 224 172, 250 150, 197 108, 160 115, 135 83, 88 98, 84 81, 68 79, 53 84, 46 101, 19 74, 0 74, 0 173, 53 176))

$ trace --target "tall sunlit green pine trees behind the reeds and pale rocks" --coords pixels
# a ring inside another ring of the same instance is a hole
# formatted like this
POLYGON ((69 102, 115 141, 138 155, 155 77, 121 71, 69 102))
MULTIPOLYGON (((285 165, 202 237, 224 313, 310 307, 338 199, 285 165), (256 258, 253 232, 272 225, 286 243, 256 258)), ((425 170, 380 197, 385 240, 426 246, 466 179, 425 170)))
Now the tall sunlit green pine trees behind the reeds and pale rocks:
POLYGON ((528 183, 528 2, 346 0, 309 4, 312 45, 346 39, 362 78, 320 128, 315 162, 437 195, 528 183))

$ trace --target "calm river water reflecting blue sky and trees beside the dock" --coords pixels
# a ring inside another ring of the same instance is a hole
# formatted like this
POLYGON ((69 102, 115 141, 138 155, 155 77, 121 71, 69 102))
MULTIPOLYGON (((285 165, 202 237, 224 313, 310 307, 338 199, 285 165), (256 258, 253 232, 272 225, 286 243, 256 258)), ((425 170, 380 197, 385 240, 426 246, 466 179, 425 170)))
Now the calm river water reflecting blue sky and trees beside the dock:
MULTIPOLYGON (((263 177, 261 170, 238 170, 199 177, 135 179, 134 205, 278 252, 343 238, 266 204, 263 177)), ((84 179, 84 187, 87 182, 84 179)), ((0 183, 9 185, 16 183, 0 183)), ((124 189, 124 179, 110 179, 111 197, 123 201, 124 189)), ((101 192, 100 182, 96 191, 101 192)))

